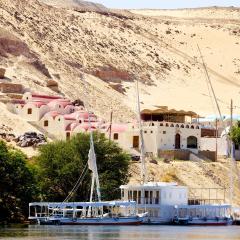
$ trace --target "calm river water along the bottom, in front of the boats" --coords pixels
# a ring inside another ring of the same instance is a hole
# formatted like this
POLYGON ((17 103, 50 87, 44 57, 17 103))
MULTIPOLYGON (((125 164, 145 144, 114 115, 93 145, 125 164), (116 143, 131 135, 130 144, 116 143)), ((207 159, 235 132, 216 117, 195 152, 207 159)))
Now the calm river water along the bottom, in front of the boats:
POLYGON ((0 239, 26 240, 240 240, 240 226, 28 226, 0 228, 0 239))

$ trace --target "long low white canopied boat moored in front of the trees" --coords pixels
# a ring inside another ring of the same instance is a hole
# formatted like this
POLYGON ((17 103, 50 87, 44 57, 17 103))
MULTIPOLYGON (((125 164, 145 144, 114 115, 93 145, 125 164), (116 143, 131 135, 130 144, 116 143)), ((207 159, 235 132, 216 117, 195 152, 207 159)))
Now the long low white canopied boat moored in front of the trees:
POLYGON ((40 225, 138 225, 144 216, 133 201, 29 204, 29 220, 40 225))

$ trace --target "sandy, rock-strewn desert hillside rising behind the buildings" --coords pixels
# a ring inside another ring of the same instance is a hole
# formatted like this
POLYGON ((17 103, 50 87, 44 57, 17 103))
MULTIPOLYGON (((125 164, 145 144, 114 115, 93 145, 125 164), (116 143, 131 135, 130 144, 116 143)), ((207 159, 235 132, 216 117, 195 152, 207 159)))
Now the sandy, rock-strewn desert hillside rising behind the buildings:
POLYGON ((213 113, 197 44, 222 111, 228 113, 231 97, 237 105, 237 8, 106 14, 37 0, 0 0, 0 12, 0 61, 8 68, 7 76, 43 92, 49 92, 46 81, 52 78, 63 95, 84 98, 80 76, 85 72, 90 104, 100 116, 108 116, 110 109, 120 120, 134 116, 136 79, 141 82, 142 107, 213 113))

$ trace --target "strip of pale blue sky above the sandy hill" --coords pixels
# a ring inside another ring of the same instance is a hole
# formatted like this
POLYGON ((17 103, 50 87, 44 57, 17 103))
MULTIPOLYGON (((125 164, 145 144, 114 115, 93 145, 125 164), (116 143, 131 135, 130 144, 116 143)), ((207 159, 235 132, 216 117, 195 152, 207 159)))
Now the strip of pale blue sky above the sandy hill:
POLYGON ((240 0, 92 0, 110 8, 194 8, 207 6, 240 7, 240 0))

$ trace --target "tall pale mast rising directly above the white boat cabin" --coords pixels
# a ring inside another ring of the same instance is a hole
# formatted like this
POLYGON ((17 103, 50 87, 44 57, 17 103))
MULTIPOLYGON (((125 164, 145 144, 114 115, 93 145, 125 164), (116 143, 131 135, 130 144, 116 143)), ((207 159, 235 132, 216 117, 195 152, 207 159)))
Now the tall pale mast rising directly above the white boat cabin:
POLYGON ((143 139, 143 129, 142 129, 142 119, 141 119, 141 107, 140 107, 140 97, 139 97, 139 86, 137 80, 137 111, 138 111, 138 126, 140 135, 140 160, 141 160, 141 182, 145 183, 147 181, 146 174, 146 162, 145 162, 145 151, 144 151, 144 139, 143 139))

